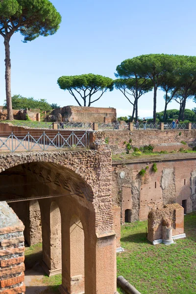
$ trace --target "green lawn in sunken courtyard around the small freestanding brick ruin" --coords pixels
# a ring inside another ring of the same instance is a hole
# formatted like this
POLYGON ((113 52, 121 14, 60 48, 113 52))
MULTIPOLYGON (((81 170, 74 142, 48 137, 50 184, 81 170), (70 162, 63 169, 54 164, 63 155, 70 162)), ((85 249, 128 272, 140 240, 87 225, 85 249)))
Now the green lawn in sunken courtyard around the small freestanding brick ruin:
POLYGON ((142 294, 196 294, 196 213, 185 216, 187 238, 170 246, 149 243, 146 227, 147 221, 122 226, 118 276, 142 294))

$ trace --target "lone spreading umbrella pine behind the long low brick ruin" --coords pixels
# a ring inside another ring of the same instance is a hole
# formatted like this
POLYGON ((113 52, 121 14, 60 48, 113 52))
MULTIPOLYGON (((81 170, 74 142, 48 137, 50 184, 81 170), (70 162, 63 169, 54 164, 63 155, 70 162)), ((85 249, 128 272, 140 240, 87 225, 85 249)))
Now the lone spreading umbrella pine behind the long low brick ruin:
POLYGON ((82 106, 79 101, 81 99, 83 100, 83 106, 91 106, 108 89, 112 91, 114 88, 112 78, 93 73, 61 76, 57 83, 61 89, 68 90, 79 106, 82 106), (95 96, 95 94, 97 95, 95 96))

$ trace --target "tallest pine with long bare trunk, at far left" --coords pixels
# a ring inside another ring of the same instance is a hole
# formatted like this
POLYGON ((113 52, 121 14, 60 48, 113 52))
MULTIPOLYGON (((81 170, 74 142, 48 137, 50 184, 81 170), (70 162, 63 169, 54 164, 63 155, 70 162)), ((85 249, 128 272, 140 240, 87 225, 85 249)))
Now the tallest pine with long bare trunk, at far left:
POLYGON ((0 0, 0 35, 5 46, 5 89, 7 118, 13 120, 11 99, 10 39, 16 32, 24 42, 39 36, 53 35, 59 28, 61 16, 49 0, 0 0))

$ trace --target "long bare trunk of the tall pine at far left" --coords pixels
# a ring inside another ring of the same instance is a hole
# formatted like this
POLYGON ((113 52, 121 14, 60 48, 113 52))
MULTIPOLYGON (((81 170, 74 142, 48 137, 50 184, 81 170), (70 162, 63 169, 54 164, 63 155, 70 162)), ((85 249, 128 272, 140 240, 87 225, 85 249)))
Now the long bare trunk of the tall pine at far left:
POLYGON ((9 38, 4 39, 5 45, 5 92, 6 92, 6 103, 7 103, 7 120, 13 121, 12 112, 12 96, 11 96, 11 60, 10 60, 10 48, 9 38))

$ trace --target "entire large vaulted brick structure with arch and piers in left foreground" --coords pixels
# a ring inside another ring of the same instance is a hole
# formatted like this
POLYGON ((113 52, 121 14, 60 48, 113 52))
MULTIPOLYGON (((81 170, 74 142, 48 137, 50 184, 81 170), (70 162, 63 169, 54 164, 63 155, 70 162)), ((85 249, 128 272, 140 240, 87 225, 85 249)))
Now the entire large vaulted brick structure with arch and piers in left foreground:
POLYGON ((116 292, 111 151, 101 139, 95 148, 0 155, 0 201, 24 222, 30 242, 40 239, 40 206, 43 268, 62 271, 61 293, 116 292))

